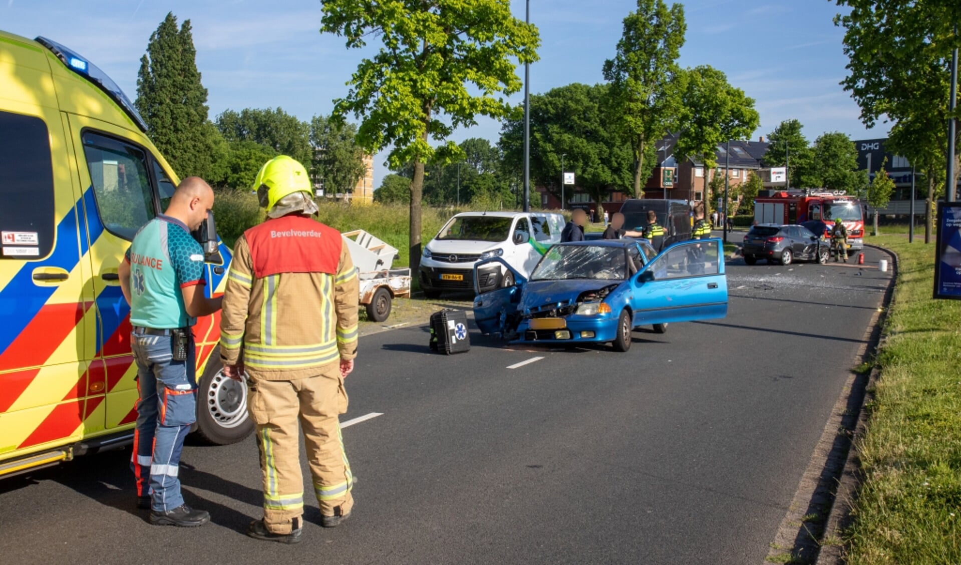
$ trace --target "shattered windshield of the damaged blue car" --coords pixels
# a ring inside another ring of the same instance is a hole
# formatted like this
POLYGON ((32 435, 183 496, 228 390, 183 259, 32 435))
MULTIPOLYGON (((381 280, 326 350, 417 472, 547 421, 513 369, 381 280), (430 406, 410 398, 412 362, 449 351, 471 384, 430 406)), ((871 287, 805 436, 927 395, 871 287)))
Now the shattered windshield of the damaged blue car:
POLYGON ((531 281, 595 279, 624 281, 628 262, 624 248, 600 245, 555 245, 537 264, 531 281))

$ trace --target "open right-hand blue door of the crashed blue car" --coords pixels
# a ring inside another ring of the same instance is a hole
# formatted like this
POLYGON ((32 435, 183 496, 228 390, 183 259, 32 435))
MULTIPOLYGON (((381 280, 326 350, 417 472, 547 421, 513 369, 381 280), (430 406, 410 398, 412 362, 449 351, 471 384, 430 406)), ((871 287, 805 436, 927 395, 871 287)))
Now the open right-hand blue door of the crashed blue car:
POLYGON ((720 239, 676 243, 633 277, 633 325, 727 316, 727 276, 720 239))

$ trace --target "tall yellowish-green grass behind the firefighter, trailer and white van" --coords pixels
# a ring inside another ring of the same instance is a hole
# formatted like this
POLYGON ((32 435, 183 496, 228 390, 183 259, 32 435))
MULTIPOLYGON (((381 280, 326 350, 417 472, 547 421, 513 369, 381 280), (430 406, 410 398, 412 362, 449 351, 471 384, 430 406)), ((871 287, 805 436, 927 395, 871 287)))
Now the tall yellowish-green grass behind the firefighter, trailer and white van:
MULTIPOLYGON (((394 266, 410 264, 409 209, 406 204, 350 205, 326 200, 317 202, 320 213, 317 220, 339 232, 364 230, 373 233, 398 250, 400 258, 394 266)), ((483 205, 428 208, 421 210, 421 239, 426 244, 440 232, 444 223, 456 213, 482 210, 483 205)), ((218 190, 213 201, 213 214, 217 220, 217 232, 232 249, 234 242, 245 230, 258 225, 264 219, 257 195, 241 190, 218 190)))

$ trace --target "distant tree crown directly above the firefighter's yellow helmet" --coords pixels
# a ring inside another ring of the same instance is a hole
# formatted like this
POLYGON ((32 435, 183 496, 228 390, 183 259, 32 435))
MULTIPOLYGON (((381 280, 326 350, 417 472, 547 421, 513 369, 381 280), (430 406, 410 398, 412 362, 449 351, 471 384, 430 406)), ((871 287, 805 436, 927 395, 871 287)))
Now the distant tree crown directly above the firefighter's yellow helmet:
POLYGON ((280 108, 223 111, 217 116, 217 129, 228 141, 253 141, 305 166, 313 159, 310 126, 280 108))

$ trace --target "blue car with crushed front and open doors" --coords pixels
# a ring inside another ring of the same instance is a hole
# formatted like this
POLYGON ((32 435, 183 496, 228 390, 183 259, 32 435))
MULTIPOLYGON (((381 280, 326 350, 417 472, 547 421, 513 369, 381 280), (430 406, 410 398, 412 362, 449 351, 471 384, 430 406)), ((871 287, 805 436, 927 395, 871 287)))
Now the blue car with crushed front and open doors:
MULTIPOLYGON (((479 293, 474 319, 480 332, 511 340, 628 351, 634 328, 663 333, 669 323, 727 316, 722 249, 720 239, 684 241, 659 254, 647 240, 557 244, 530 279, 514 272, 512 286, 479 293)), ((511 269, 500 258, 475 269, 494 261, 511 269)))

